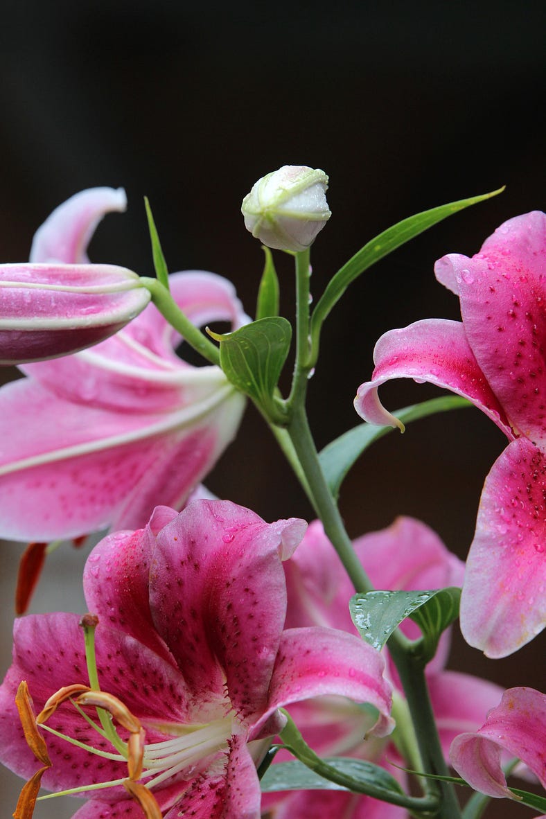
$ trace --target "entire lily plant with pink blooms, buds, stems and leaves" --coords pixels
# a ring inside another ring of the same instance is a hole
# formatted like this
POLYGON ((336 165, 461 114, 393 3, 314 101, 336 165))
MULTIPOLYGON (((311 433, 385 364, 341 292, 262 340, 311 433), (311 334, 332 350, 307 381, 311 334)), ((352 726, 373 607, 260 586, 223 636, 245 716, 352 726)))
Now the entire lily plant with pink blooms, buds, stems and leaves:
POLYGON ((546 695, 445 670, 458 619, 490 658, 546 623, 546 216, 436 263, 462 320, 385 333, 354 400, 363 423, 318 453, 306 396, 332 308, 377 260, 497 193, 386 229, 312 305, 326 190, 322 170, 287 165, 245 197, 265 259, 254 319, 224 278, 168 274, 148 203, 156 275, 90 263, 123 190, 72 197, 29 262, 0 265, 0 363, 25 375, 0 390, 0 536, 29 543, 0 687, 0 760, 25 779, 16 819, 66 794, 74 819, 477 819, 499 798, 546 816, 546 695), (292 321, 272 249, 294 259, 292 321), (230 331, 210 330, 218 321, 230 331), (204 365, 177 355, 182 339, 204 365), (391 414, 378 398, 390 378, 454 395, 391 414), (249 401, 309 498, 309 526, 265 523, 201 484, 249 401), (337 501, 363 451, 469 403, 507 446, 466 566, 413 518, 351 541, 337 501), (48 552, 96 532, 88 611, 25 615, 48 552), (512 771, 530 790, 508 785, 512 771))

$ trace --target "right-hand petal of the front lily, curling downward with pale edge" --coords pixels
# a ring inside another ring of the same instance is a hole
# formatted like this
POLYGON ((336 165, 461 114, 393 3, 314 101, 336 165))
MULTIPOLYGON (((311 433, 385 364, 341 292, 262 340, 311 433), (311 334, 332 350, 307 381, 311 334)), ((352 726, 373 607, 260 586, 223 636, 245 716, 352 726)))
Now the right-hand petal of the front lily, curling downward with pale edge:
POLYGON ((291 628, 282 632, 269 688, 268 711, 300 699, 323 695, 349 697, 371 703, 379 711, 372 734, 390 734, 390 684, 384 679, 385 661, 370 645, 345 631, 329 628, 291 628))

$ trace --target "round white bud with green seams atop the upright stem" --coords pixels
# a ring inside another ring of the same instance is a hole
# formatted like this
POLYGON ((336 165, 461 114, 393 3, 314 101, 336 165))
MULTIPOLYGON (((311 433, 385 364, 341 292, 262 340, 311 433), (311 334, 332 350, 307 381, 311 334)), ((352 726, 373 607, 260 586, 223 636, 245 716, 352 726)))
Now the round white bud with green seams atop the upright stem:
POLYGON ((305 251, 332 215, 327 187, 323 170, 283 165, 258 179, 243 199, 246 229, 267 247, 305 251))

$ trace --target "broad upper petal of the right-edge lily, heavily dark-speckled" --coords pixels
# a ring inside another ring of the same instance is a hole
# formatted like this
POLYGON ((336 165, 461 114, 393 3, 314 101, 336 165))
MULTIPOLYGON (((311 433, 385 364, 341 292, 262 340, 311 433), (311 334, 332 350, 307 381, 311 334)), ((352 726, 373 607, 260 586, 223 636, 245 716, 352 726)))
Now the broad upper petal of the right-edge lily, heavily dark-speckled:
POLYGON ((546 447, 546 215, 501 225, 481 252, 436 263, 453 278, 472 352, 512 427, 546 447))

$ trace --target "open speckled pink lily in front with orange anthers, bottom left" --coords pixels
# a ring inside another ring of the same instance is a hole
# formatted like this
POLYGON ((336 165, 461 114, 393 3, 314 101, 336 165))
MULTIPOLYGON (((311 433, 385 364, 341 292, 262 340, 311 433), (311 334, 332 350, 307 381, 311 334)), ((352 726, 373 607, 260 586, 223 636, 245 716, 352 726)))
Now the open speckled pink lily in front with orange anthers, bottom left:
MULTIPOLYGON (((345 632, 284 628, 282 560, 304 532, 297 518, 268 524, 228 501, 197 500, 180 514, 158 507, 145 529, 111 534, 90 554, 83 587, 98 617, 98 679, 143 750, 129 785, 136 794, 147 785, 140 792, 156 805, 147 815, 259 819, 255 763, 282 727, 282 705, 348 697, 377 708, 373 733, 391 730, 381 654, 345 632)), ((20 730, 16 690, 26 680, 37 710, 65 686, 85 690, 79 617, 21 618, 14 643, 0 687, 0 759, 31 777, 38 763, 20 730)), ((74 819, 142 816, 122 786, 130 749, 112 749, 68 701, 47 726, 62 736, 44 731, 42 784, 81 790, 89 801, 74 819), (112 784, 87 790, 98 782, 112 784)))

